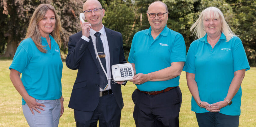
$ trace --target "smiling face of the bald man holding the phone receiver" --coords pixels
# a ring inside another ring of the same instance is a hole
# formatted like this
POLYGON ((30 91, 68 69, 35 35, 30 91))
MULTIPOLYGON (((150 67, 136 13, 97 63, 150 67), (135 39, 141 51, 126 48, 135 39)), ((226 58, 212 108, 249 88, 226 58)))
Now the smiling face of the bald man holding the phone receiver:
MULTIPOLYGON (((87 0, 83 6, 83 11, 91 10, 94 8, 102 8, 101 4, 97 0, 87 0)), ((91 13, 85 14, 85 20, 89 22, 92 27, 102 27, 102 18, 105 15, 105 10, 100 9, 98 12, 92 11, 91 13)))

